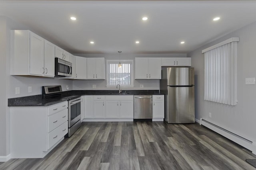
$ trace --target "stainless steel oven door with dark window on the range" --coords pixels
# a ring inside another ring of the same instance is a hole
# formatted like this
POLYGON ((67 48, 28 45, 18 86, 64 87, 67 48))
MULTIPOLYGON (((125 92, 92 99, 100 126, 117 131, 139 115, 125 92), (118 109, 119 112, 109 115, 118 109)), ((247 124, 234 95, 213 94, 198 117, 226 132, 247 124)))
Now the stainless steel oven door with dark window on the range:
POLYGON ((68 101, 68 128, 81 119, 81 98, 68 101))

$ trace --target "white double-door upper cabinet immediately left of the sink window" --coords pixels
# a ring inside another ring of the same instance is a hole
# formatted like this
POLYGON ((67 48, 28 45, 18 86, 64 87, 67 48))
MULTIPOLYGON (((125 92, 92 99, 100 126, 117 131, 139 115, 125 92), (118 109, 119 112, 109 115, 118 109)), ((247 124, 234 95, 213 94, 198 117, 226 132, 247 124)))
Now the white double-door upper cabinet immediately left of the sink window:
POLYGON ((105 79, 105 58, 87 58, 87 79, 105 79))

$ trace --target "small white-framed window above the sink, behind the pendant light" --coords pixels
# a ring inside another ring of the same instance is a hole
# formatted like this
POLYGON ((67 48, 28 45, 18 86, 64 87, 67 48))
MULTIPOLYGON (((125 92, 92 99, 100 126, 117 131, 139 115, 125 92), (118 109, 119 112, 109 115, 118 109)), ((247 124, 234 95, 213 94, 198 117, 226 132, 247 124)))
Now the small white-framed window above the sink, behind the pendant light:
POLYGON ((118 68, 119 60, 107 60, 107 87, 133 87, 133 60, 121 60, 122 67, 118 68))

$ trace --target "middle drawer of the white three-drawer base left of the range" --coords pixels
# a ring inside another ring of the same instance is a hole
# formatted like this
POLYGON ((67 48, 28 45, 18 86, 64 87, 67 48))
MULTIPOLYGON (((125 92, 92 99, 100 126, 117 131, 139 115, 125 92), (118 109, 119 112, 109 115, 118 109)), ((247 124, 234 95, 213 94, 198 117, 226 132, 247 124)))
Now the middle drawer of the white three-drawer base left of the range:
POLYGON ((52 131, 65 121, 68 121, 68 109, 64 109, 48 116, 48 132, 52 131))

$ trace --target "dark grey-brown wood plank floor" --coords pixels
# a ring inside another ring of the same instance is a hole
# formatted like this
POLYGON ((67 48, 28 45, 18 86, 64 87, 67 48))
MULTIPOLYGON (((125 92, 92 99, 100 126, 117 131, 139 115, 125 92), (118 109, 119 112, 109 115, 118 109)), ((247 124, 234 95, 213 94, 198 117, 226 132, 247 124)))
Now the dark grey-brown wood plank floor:
POLYGON ((44 158, 0 170, 244 170, 250 151, 198 124, 86 122, 44 158))

